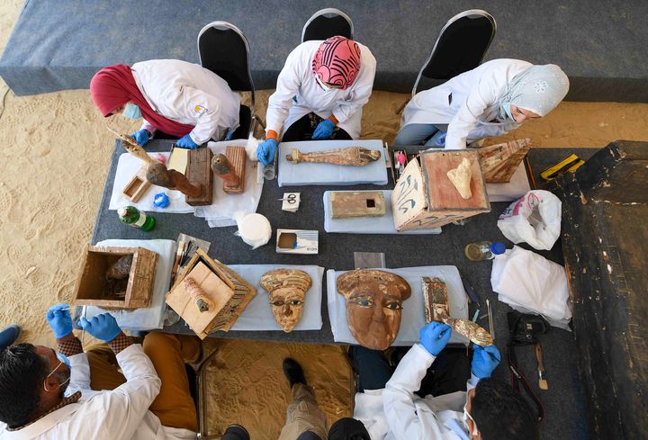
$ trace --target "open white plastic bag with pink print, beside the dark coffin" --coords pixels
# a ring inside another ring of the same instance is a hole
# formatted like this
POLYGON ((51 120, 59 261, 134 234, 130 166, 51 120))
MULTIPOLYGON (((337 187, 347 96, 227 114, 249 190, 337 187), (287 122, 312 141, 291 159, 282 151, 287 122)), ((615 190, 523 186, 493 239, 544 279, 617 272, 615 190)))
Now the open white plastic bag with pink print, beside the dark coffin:
POLYGON ((563 203, 553 193, 532 190, 500 214, 498 228, 513 243, 549 250, 560 236, 563 203))

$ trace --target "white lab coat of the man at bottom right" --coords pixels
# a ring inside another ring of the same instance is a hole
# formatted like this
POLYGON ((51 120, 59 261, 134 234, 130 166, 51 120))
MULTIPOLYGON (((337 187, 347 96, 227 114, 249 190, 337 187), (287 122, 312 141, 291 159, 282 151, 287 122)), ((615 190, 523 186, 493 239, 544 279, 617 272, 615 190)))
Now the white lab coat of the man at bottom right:
MULTIPOLYGON (((464 431, 465 391, 421 399, 414 394, 435 356, 420 344, 412 346, 383 390, 356 394, 354 418, 367 428, 372 440, 459 440, 464 431)), ((472 390, 479 382, 467 383, 472 390)))

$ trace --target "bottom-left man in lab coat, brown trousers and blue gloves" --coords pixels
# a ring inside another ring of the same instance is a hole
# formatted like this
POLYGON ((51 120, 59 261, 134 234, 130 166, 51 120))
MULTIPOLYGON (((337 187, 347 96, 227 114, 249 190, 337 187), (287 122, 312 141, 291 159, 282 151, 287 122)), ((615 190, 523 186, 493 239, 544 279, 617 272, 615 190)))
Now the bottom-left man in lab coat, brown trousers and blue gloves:
POLYGON ((184 361, 198 360, 197 337, 149 333, 142 347, 103 313, 79 324, 112 354, 84 353, 67 305, 52 306, 47 320, 58 351, 18 344, 0 353, 0 438, 196 438, 184 361))

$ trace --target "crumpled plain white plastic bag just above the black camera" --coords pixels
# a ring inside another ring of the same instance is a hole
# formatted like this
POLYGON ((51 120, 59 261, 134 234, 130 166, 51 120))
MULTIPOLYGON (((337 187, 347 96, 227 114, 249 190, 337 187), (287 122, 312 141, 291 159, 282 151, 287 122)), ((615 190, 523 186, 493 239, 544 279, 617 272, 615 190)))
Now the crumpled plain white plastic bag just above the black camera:
POLYGON ((513 309, 539 313, 552 326, 569 330, 572 308, 562 265, 514 246, 505 254, 495 256, 491 286, 493 292, 500 293, 500 301, 513 309))

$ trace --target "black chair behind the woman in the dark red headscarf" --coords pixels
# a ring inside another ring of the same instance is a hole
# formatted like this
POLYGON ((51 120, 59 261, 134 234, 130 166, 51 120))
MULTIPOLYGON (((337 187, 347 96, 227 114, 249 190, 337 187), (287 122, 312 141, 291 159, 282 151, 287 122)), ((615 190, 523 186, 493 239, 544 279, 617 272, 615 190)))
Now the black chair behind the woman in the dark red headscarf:
POLYGON ((243 32, 229 22, 211 22, 198 32, 198 56, 201 66, 223 78, 235 92, 251 93, 251 108, 241 104, 240 126, 232 139, 247 139, 253 135, 257 121, 255 88, 249 66, 249 46, 243 32), (244 126, 245 124, 245 126, 244 126))

